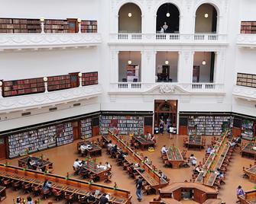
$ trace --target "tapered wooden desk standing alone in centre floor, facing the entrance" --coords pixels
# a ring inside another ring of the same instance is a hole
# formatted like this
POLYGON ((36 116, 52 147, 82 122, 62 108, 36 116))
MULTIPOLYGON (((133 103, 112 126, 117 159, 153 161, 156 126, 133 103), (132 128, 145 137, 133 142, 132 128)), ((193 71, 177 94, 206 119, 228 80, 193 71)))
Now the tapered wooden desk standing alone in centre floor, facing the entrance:
POLYGON ((180 153, 180 149, 172 146, 167 151, 167 162, 172 165, 173 168, 179 168, 184 163, 183 156, 180 153))

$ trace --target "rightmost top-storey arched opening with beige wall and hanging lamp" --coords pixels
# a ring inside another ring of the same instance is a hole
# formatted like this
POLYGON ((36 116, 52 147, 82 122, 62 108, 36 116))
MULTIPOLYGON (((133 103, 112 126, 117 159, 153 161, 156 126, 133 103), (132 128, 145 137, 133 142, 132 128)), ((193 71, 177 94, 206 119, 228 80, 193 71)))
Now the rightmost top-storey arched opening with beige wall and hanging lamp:
POLYGON ((195 33, 217 32, 217 10, 213 5, 203 4, 196 10, 195 33))

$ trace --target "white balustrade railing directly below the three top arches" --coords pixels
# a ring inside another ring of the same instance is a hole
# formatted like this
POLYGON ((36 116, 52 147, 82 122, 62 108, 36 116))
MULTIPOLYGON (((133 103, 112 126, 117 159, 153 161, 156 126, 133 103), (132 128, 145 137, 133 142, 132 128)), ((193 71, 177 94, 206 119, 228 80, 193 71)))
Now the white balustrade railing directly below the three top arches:
POLYGON ((216 33, 112 33, 109 43, 227 43, 227 35, 216 33))

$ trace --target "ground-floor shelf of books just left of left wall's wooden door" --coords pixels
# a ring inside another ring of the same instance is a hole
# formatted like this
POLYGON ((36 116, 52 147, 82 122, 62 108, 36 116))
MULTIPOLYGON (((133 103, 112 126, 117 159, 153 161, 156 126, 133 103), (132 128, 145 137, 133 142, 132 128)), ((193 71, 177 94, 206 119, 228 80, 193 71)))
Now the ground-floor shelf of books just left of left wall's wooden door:
POLYGON ((63 123, 57 125, 57 146, 66 145, 73 142, 72 123, 63 123))

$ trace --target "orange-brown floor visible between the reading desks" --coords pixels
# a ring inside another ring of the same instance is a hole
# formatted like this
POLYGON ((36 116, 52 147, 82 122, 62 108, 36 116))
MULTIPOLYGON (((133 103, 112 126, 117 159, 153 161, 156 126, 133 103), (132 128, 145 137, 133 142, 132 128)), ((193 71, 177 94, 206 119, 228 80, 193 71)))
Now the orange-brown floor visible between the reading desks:
MULTIPOLYGON (((96 139, 96 138, 94 138, 96 139)), ((206 138, 206 145, 209 144, 211 141, 211 137, 206 138)), ((49 150, 37 152, 33 154, 34 156, 40 156, 41 154, 44 155, 44 158, 49 158, 50 161, 53 161, 53 167, 54 167, 54 174, 60 174, 65 176, 68 172, 69 174, 73 175, 73 161, 76 158, 81 158, 76 153, 76 142, 73 142, 70 145, 63 145, 57 148, 51 148, 49 150)), ((164 171, 164 174, 167 175, 167 177, 170 178, 170 183, 177 182, 177 181, 184 181, 184 180, 190 180, 192 175, 192 168, 180 168, 180 169, 171 169, 171 168, 165 168, 163 166, 163 163, 160 161, 160 148, 162 148, 163 145, 176 145, 180 148, 180 150, 183 150, 183 136, 177 135, 175 139, 169 139, 169 135, 157 135, 157 146, 155 148, 154 153, 150 153, 148 151, 142 151, 144 155, 147 155, 148 158, 153 161, 153 164, 160 168, 162 171, 164 171)), ((188 151, 188 156, 193 153, 197 161, 202 161, 203 156, 205 153, 205 150, 193 150, 190 149, 188 151)), ((132 203, 138 203, 135 195, 135 185, 134 180, 128 177, 128 174, 125 173, 125 171, 122 171, 122 167, 118 167, 115 164, 114 159, 110 159, 108 155, 105 154, 105 150, 102 152, 102 157, 98 158, 98 162, 102 161, 102 163, 105 163, 105 161, 109 161, 110 164, 112 164, 112 183, 108 183, 109 186, 114 186, 114 182, 117 183, 118 187, 130 190, 132 194, 132 203)), ((5 163, 5 161, 1 161, 2 163, 5 163)), ((18 158, 13 160, 8 160, 9 163, 18 165, 18 158)), ((226 204, 232 204, 235 203, 236 194, 235 190, 238 185, 241 185, 244 190, 251 190, 255 184, 249 182, 247 179, 242 178, 242 167, 248 167, 249 164, 253 164, 254 161, 248 158, 241 158, 241 155, 239 154, 238 150, 234 154, 234 159, 232 160, 232 163, 230 164, 230 167, 228 168, 228 173, 226 174, 226 180, 225 185, 222 186, 222 189, 220 190, 219 197, 224 201, 226 204)), ((75 177, 75 176, 73 176, 75 177)), ((77 176, 76 176, 77 177, 77 176)), ((14 192, 13 190, 7 190, 7 199, 5 199, 2 204, 10 204, 13 203, 13 199, 15 199, 17 196, 21 196, 26 198, 28 195, 24 195, 23 192, 17 191, 14 192)), ((157 195, 151 195, 151 196, 143 196, 141 203, 148 203, 151 201, 154 197, 157 195)), ((38 199, 38 197, 35 197, 34 199, 38 199)), ((65 203, 63 200, 59 202, 53 201, 53 198, 50 198, 49 201, 52 201, 53 203, 65 203)), ((47 201, 42 200, 41 203, 47 203, 47 201)), ((190 201, 183 201, 183 203, 189 204, 189 203, 196 203, 196 202, 190 202, 190 201)))

